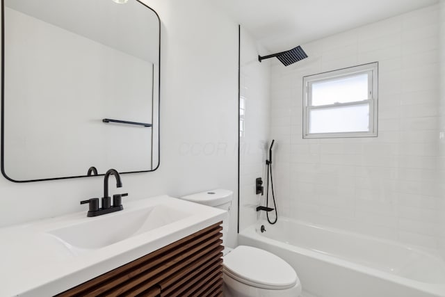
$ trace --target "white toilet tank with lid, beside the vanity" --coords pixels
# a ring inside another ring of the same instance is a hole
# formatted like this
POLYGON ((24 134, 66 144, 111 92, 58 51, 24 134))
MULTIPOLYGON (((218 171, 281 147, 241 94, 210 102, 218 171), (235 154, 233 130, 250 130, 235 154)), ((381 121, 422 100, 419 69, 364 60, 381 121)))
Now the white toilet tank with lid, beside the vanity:
POLYGON ((234 192, 225 190, 223 188, 217 188, 216 190, 204 191, 201 193, 195 193, 181 197, 182 200, 204 204, 209 207, 216 207, 223 209, 229 213, 227 218, 223 220, 223 245, 226 246, 227 232, 229 230, 230 221, 230 206, 232 205, 232 199, 234 198, 234 192))

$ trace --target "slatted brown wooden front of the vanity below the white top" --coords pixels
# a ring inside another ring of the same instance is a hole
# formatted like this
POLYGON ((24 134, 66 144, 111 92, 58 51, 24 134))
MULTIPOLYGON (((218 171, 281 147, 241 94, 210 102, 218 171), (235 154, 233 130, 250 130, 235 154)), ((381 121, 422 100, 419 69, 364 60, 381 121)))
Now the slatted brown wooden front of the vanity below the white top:
POLYGON ((57 296, 222 296, 222 222, 57 296))

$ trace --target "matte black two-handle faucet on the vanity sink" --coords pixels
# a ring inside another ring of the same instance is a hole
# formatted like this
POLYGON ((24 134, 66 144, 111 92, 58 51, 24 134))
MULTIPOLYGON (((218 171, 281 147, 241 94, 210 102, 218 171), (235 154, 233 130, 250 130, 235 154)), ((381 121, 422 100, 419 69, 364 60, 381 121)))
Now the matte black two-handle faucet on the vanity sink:
POLYGON ((108 177, 114 175, 116 179, 116 186, 122 187, 119 172, 115 169, 110 169, 105 173, 104 177, 104 197, 102 197, 102 208, 99 208, 99 198, 91 198, 89 200, 81 201, 81 204, 90 204, 87 216, 100 216, 102 214, 109 214, 111 212, 120 211, 122 207, 122 196, 127 196, 128 193, 113 195, 113 206, 111 206, 111 198, 108 196, 108 177))

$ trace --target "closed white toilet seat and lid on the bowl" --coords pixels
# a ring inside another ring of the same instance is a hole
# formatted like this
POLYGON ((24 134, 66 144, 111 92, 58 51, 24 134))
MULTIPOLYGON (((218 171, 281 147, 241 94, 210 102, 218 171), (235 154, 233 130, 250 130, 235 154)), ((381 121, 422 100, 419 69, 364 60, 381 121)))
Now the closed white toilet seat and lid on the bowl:
POLYGON ((238 246, 224 257, 224 273, 261 289, 289 289, 297 283, 297 274, 280 257, 251 246, 238 246))

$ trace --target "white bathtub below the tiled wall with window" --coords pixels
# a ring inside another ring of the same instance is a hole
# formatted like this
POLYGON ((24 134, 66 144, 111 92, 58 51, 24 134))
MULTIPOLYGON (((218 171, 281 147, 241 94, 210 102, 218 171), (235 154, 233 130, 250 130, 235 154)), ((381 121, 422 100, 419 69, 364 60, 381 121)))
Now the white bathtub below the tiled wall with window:
POLYGON ((248 227, 238 243, 282 257, 317 297, 445 296, 444 260, 394 241, 280 218, 248 227))

